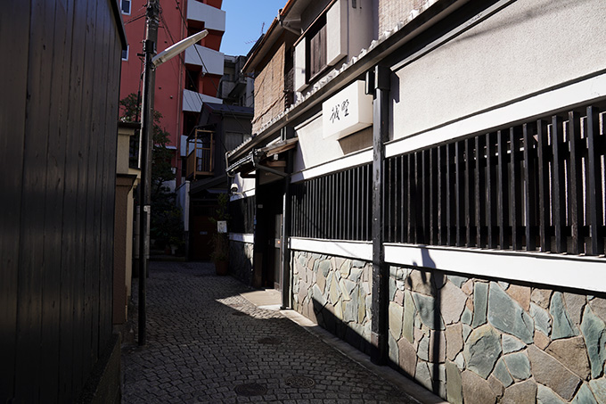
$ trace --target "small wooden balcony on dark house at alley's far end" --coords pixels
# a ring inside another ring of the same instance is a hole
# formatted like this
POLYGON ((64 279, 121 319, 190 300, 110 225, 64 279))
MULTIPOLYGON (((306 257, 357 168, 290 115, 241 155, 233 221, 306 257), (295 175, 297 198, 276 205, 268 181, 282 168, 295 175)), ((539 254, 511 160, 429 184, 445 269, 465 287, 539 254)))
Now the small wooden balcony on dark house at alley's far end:
POLYGON ((187 177, 195 180, 215 174, 215 137, 211 130, 196 129, 187 138, 187 177))

